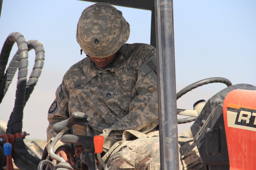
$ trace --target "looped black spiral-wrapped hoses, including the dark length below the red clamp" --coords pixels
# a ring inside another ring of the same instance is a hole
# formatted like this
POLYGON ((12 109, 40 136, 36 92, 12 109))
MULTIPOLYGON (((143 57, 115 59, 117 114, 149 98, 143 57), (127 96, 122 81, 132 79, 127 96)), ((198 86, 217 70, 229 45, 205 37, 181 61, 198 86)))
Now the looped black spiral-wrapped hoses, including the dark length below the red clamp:
MULTIPOLYGON (((6 38, 0 54, 0 103, 8 90, 10 83, 18 69, 18 81, 15 104, 13 112, 7 123, 7 134, 15 134, 22 132, 23 110, 28 101, 34 86, 37 84, 38 77, 44 65, 44 47, 37 40, 26 42, 24 36, 18 32, 9 34, 6 38), (10 51, 14 43, 17 43, 18 50, 10 61, 9 67, 4 74, 10 51), (35 49, 36 57, 33 70, 27 81, 28 74, 28 51, 35 49)), ((34 170, 40 162, 40 159, 32 156, 26 149, 22 138, 17 138, 14 143, 13 159, 15 165, 20 169, 34 170)))

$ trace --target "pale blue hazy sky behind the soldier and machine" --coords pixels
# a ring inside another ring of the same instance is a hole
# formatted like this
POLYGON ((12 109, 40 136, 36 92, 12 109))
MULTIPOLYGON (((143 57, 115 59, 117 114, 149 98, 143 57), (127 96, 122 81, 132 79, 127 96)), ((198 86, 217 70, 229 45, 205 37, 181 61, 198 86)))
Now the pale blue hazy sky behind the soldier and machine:
MULTIPOLYGON (((209 77, 225 77, 233 84, 256 85, 256 1, 174 0, 173 3, 177 91, 209 77)), ((1 48, 12 32, 20 32, 27 41, 38 40, 45 48, 41 77, 24 110, 23 130, 31 134, 27 138, 46 138, 47 112, 55 90, 68 68, 85 57, 80 55, 76 42, 76 26, 83 9, 92 4, 78 0, 3 0, 1 48), (37 117, 39 121, 32 121, 37 117)), ((130 23, 127 43, 150 43, 151 12, 116 8, 130 23)), ((14 44, 9 60, 16 50, 14 44)), ((34 59, 31 50, 30 69, 34 59)), ((223 84, 200 87, 179 99, 178 107, 192 109, 194 102, 207 100, 223 88, 223 84)), ((13 81, 0 104, 0 116, 5 121, 14 106, 15 90, 13 81)))

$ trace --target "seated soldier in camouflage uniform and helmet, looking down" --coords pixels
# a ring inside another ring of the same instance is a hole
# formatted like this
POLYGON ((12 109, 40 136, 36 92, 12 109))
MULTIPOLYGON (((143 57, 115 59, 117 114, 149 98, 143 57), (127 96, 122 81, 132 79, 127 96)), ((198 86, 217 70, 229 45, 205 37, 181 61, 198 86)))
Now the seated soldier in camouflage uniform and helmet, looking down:
MULTIPOLYGON (((108 169, 160 169, 156 49, 125 44, 129 23, 122 12, 105 3, 86 8, 78 21, 76 39, 86 58, 74 64, 57 88, 48 112, 47 148, 52 126, 72 112, 90 117, 75 134, 104 137, 103 160, 108 169)), ((193 140, 179 137, 180 169, 205 169, 193 140)), ((74 165, 83 151, 59 142, 57 154, 74 165), (58 149, 59 148, 59 149, 58 149)))

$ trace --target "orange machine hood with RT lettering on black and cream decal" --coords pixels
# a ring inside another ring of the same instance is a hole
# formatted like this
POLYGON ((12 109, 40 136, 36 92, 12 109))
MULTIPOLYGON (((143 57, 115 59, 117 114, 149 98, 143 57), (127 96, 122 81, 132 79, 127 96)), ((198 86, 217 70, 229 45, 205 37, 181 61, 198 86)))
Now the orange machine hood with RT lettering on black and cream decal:
POLYGON ((223 104, 230 170, 256 169, 256 90, 232 90, 223 104))

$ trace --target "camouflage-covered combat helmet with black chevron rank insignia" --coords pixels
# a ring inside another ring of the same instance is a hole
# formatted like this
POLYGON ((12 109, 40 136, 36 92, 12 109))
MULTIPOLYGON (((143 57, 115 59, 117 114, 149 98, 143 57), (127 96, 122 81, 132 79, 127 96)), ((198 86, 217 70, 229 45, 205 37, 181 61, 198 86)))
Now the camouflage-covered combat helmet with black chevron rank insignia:
POLYGON ((113 55, 128 40, 130 26, 115 7, 93 4, 83 10, 77 24, 77 42, 90 57, 113 55))

